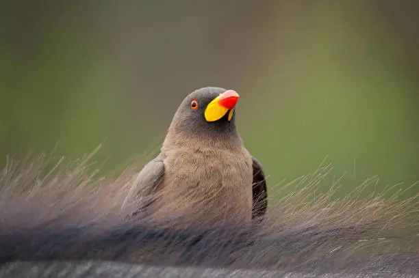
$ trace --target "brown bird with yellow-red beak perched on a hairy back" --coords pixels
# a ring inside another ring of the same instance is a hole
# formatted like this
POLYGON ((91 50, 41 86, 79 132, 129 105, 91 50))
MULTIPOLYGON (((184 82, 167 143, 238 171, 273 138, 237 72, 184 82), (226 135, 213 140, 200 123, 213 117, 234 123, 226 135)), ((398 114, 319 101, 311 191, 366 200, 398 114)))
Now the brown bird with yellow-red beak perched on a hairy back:
POLYGON ((162 212, 162 219, 188 210, 191 223, 193 215, 195 222, 212 225, 266 214, 264 170, 236 127, 239 97, 233 89, 202 87, 181 102, 160 154, 142 168, 133 187, 143 204, 152 197, 147 208, 162 212))

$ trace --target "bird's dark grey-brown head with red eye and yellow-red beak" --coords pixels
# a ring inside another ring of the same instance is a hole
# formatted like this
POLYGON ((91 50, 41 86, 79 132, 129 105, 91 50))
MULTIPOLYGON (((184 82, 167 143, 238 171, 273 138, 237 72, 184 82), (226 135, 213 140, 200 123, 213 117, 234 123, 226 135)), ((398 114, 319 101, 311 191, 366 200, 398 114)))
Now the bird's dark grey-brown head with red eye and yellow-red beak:
POLYGON ((181 102, 169 132, 180 133, 183 137, 236 137, 238 98, 238 93, 231 89, 197 89, 181 102))

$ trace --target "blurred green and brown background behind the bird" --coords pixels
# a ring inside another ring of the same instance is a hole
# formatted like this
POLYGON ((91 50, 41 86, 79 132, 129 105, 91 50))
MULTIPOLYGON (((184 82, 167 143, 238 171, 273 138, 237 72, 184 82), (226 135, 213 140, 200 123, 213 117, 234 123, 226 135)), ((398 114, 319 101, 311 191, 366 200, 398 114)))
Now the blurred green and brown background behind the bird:
POLYGON ((241 95, 238 128, 270 185, 326 156, 330 179, 346 173, 340 195, 374 175, 381 189, 419 180, 418 1, 0 7, 1 165, 57 142, 69 158, 103 143, 105 172, 151 158, 183 97, 212 85, 241 95))

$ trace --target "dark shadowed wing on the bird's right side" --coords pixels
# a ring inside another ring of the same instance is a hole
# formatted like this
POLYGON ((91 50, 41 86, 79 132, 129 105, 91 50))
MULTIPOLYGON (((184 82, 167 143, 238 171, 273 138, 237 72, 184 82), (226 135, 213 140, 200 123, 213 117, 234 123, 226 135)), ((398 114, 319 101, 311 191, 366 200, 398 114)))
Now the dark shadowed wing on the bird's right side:
POLYGON ((268 209, 268 191, 266 189, 266 178, 262 165, 256 158, 252 157, 253 164, 253 208, 252 219, 262 217, 268 209))

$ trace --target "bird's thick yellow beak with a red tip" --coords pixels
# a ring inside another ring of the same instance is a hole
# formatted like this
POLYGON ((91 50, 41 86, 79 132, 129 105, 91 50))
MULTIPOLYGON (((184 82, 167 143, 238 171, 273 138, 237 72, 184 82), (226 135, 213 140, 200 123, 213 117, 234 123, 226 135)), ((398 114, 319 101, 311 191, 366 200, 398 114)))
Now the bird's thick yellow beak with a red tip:
POLYGON ((229 112, 229 120, 233 117, 234 107, 236 107, 239 94, 232 89, 220 94, 212 100, 205 109, 204 116, 207 122, 215 122, 220 120, 224 115, 229 112))

